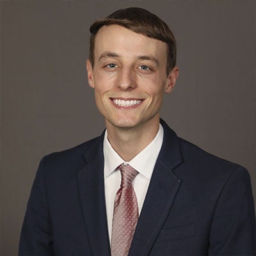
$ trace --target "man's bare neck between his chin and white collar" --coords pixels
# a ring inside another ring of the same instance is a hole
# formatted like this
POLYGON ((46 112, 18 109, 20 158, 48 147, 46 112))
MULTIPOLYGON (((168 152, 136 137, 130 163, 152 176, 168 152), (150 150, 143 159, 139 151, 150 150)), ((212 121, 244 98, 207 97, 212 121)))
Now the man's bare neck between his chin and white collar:
POLYGON ((106 127, 109 143, 117 154, 128 162, 154 140, 159 131, 159 116, 137 127, 115 127, 109 124, 108 121, 106 127))

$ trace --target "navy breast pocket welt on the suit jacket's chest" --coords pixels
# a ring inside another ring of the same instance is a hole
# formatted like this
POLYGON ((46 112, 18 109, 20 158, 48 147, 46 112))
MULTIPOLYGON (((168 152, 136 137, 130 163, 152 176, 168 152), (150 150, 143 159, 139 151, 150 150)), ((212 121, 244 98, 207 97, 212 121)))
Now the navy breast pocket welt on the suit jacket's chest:
POLYGON ((168 241, 172 239, 180 239, 191 236, 195 236, 195 223, 173 228, 163 228, 160 231, 159 236, 157 237, 157 242, 168 241))

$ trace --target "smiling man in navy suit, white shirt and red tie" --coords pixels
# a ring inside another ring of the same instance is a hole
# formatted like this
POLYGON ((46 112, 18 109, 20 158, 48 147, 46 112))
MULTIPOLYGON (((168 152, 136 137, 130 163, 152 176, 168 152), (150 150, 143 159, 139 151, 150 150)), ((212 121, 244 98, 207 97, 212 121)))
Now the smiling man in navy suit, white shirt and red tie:
POLYGON ((106 131, 42 159, 19 255, 255 255, 248 172, 159 118, 179 74, 172 31, 141 8, 90 31, 88 82, 106 131))

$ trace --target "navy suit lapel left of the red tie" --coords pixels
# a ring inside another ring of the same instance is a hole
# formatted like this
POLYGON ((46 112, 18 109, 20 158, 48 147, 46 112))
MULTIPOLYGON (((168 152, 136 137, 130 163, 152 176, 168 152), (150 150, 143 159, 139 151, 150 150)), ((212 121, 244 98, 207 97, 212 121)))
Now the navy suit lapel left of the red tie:
POLYGON ((77 173, 81 208, 92 255, 110 255, 104 193, 104 134, 84 155, 85 165, 77 173))

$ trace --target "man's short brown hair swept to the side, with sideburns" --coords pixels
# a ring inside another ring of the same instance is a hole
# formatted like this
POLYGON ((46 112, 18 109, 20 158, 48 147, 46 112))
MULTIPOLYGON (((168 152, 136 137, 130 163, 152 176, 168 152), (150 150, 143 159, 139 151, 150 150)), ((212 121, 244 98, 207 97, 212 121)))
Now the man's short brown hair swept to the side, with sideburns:
POLYGON ((143 8, 131 7, 113 12, 108 17, 95 21, 90 27, 90 62, 94 65, 95 36, 102 26, 118 25, 135 33, 160 40, 168 45, 166 72, 176 65, 176 40, 166 23, 143 8))

